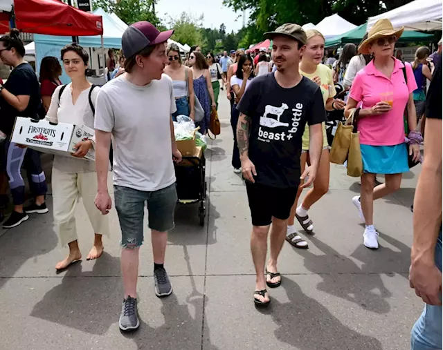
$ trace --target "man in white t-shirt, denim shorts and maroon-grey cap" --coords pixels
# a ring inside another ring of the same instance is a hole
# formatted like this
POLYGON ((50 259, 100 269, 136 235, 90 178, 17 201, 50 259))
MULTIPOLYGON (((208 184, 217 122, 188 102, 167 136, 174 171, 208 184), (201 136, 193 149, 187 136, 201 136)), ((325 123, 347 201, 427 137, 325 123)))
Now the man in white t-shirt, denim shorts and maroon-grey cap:
POLYGON ((107 188, 112 135, 114 197, 122 231, 120 264, 125 300, 119 327, 123 331, 140 325, 136 284, 146 202, 152 230, 155 293, 159 297, 172 293, 163 264, 177 203, 172 160, 180 162, 181 153, 171 117, 177 110, 172 80, 163 75, 163 69, 168 63, 165 42, 173 32, 159 32, 147 21, 129 26, 122 37, 126 73, 107 83, 97 97, 96 206, 105 215, 112 205, 107 188))

